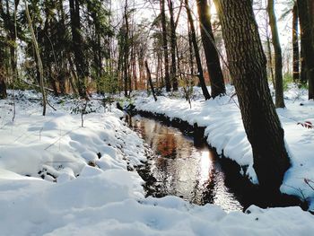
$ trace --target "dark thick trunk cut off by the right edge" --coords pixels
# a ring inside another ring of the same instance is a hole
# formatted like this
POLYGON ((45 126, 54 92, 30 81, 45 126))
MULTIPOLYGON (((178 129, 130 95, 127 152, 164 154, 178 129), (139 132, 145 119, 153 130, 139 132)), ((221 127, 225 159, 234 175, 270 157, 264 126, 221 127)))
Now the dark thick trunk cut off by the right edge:
POLYGON ((298 11, 301 30, 302 57, 305 65, 305 75, 309 82, 309 99, 314 99, 314 47, 311 23, 311 1, 298 0, 298 11))

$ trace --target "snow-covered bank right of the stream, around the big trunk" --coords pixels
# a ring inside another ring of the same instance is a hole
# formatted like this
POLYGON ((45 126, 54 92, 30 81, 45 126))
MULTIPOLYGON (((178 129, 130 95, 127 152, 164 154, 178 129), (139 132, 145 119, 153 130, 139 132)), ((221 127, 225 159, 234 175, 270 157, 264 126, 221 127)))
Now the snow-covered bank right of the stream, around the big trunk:
MULTIPOLYGON (((238 162, 242 172, 257 183, 257 176, 253 169, 251 146, 245 134, 237 97, 234 88, 228 87, 229 96, 204 101, 199 88, 194 88, 192 107, 185 99, 179 98, 179 93, 160 96, 153 101, 147 95, 135 97, 136 109, 161 113, 169 118, 180 118, 205 128, 207 142, 217 149, 217 153, 238 162)), ((310 121, 314 124, 314 101, 307 100, 305 91, 295 87, 285 92, 285 109, 277 109, 281 119, 286 146, 292 158, 292 168, 285 174, 281 191, 300 197, 310 203, 314 210, 314 129, 298 125, 310 121), (313 188, 311 188, 311 187, 313 188)))

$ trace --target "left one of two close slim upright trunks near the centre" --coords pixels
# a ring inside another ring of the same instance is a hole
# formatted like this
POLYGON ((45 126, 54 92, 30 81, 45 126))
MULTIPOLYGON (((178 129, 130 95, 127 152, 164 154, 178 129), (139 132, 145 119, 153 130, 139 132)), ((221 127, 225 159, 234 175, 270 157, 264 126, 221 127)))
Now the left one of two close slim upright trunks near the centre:
POLYGON ((170 75, 169 75, 169 57, 168 57, 168 40, 167 40, 167 25, 166 25, 166 14, 165 14, 165 0, 161 1, 161 28, 162 28, 162 47, 163 47, 163 58, 165 64, 165 83, 166 91, 171 91, 170 75))

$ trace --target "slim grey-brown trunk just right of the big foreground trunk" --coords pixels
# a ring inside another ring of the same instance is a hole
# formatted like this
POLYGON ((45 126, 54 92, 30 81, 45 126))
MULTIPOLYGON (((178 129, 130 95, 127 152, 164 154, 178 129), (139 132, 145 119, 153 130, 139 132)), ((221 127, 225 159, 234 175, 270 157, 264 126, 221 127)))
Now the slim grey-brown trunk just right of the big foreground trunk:
POLYGON ((283 101, 283 56, 280 46, 277 22, 275 19, 274 0, 268 0, 267 12, 269 15, 269 25, 272 31, 273 46, 275 50, 275 107, 284 108, 283 101))

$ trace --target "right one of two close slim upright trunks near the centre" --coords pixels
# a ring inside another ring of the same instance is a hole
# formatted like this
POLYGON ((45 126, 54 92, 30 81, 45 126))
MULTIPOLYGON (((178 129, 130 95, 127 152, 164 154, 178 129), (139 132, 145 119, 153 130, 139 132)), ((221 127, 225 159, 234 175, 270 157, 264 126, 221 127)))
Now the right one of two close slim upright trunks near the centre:
POLYGON ((177 63, 176 63, 177 36, 176 36, 175 22, 173 19, 172 0, 168 0, 168 5, 169 5, 169 12, 170 12, 170 52, 171 52, 170 81, 172 82, 173 91, 178 91, 178 80, 176 77, 177 76, 177 63))

